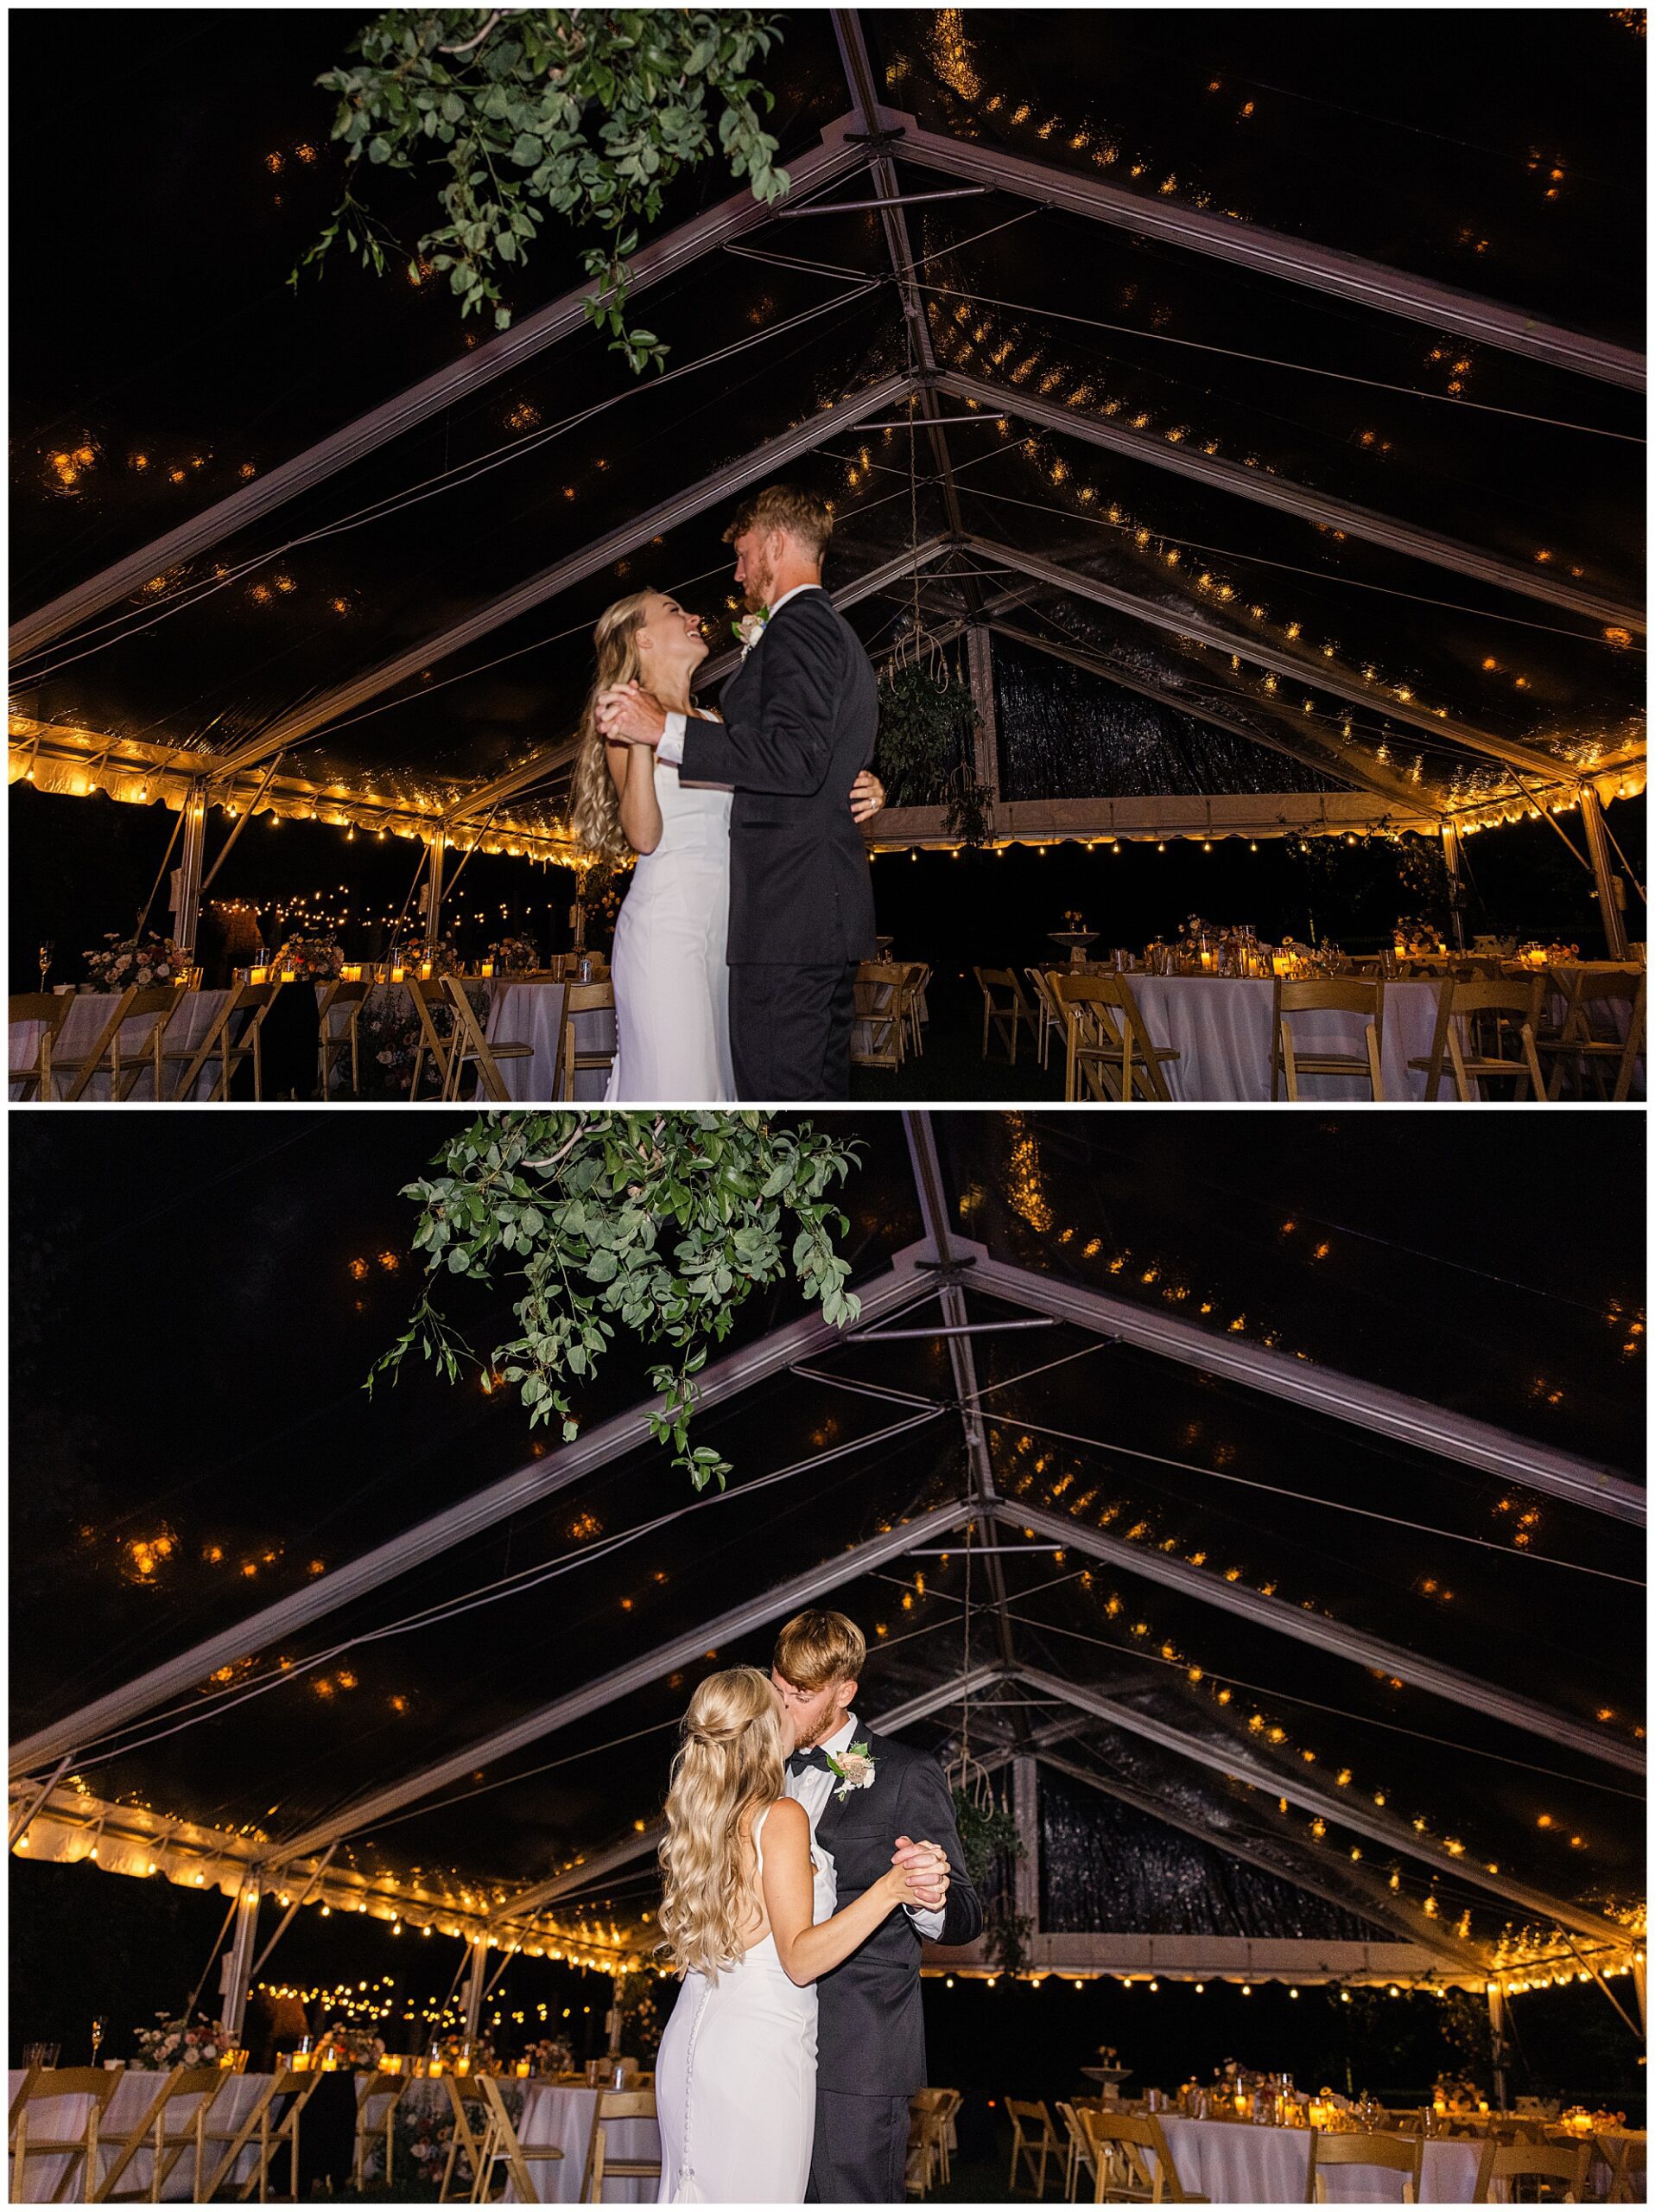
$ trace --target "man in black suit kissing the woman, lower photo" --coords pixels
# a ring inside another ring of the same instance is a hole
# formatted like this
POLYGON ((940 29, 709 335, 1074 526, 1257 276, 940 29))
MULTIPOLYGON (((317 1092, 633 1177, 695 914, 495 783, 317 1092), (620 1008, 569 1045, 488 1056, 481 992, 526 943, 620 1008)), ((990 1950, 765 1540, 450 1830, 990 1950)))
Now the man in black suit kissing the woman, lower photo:
POLYGON ((943 1770, 852 1712, 865 1655, 861 1628, 843 1613, 801 1613, 777 1637, 770 1681, 797 1725, 788 1796, 805 1807, 812 1840, 834 1860, 841 1907, 898 1858, 934 1905, 892 1913, 816 1982, 808 2203, 905 2201, 907 2099, 925 2088, 920 1938, 956 1944, 982 1931, 943 1770))

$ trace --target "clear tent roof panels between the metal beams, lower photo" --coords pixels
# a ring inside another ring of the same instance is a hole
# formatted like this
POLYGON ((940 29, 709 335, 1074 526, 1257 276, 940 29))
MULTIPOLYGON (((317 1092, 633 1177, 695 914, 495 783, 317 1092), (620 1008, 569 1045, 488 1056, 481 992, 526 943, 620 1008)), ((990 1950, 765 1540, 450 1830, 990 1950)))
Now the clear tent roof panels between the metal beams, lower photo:
MULTIPOLYGON (((1301 1124, 1288 1139, 1261 1117, 1228 1117, 1221 1133, 1117 1135, 1060 1115, 949 1115, 936 1135, 951 1232, 998 1261, 1095 1283, 1190 1321, 1215 1345, 1266 1345, 1637 1482, 1635 1130, 1600 1128, 1593 1179, 1620 1197, 1584 1219, 1580 1181, 1555 1177, 1531 1119, 1502 1121, 1493 1166, 1489 1141, 1471 1150, 1447 1119, 1405 1150, 1363 1117, 1301 1124)), ((872 1117, 861 1135, 847 1212, 867 1287, 923 1223, 896 1117, 872 1117)), ((343 1130, 296 1117, 274 1144, 246 1119, 186 1135, 142 1117, 89 1161, 53 1126, 22 1133, 15 1252, 35 1334, 13 1376, 18 1734, 314 1575, 325 1588, 374 1546, 533 1467, 533 1447, 555 1471, 558 1447, 531 1438, 504 1398, 420 1376, 372 1400, 361 1389, 407 1310, 412 1208, 396 1188, 431 1141, 365 1117, 343 1130), (184 1150, 188 1203, 148 1199, 186 1188, 184 1150), (71 1166, 82 1212, 64 1223, 71 1166), (166 1285, 179 1358, 157 1363, 153 1332, 131 1329, 137 1281, 166 1285), (86 1345, 100 1347, 93 1376, 86 1345), (77 1624, 69 1670, 66 1608, 77 1624)), ((974 1323, 1027 1316, 971 1290, 969 1274, 974 1323)), ((925 1303, 887 1325, 936 1323, 923 1281, 914 1296, 925 1303)), ((788 1301, 743 1310, 737 1347, 790 1316, 788 1301)), ((487 1327, 491 1316, 473 1318, 487 1327)), ((1451 1918, 1471 1913, 1474 1942, 1524 1918, 1374 1840, 1363 1818, 1381 1801, 1436 1847, 1547 1896, 1591 1909, 1642 1896, 1637 1776, 1580 1741, 1513 1725, 1502 1708, 1524 1697, 1558 1728, 1602 1732, 1617 1759, 1635 1728, 1642 1739, 1642 1582, 1624 1520, 1075 1323, 974 1347, 1011 1515, 998 1540, 1022 1544, 1016 1520, 1035 1509, 1075 1540, 1120 1540, 1104 1559, 1042 1522, 1024 1548, 996 1555, 1018 1663, 1100 1692, 1144 1725, 1104 1723, 1062 1697, 1038 1710, 1022 1703, 1027 1688, 998 1683, 912 1721, 909 1741, 954 1756, 965 1734, 991 1756, 1024 1719, 1055 1728, 1075 1867, 1095 1865, 1124 1818, 1095 1809, 1091 1840, 1075 1829, 1075 1807, 1097 1798, 1093 1776, 1157 1827, 1162 1865, 1195 1867, 1199 1840, 1228 1843, 1263 1882, 1248 1893, 1266 1920, 1266 1876, 1381 1924, 1387 1896, 1420 1907, 1436 1893, 1451 1918), (1201 1573, 1168 1582, 1168 1559, 1201 1573), (1392 1679, 1283 1632, 1281 1615, 1228 1610, 1210 1595, 1215 1577, 1458 1670, 1463 1688, 1409 1688, 1401 1659, 1392 1679), (1292 1812, 1224 1778, 1241 1759, 1281 1776, 1292 1812), (1350 1820, 1341 1798, 1314 1832, 1301 1783, 1345 1792, 1350 1820), (1396 1891, 1383 1887, 1392 1867, 1396 1891)), ((646 1365, 626 1347, 613 1354, 582 1394, 586 1431, 644 1398, 646 1365)), ((728 1493, 697 1502, 648 1440, 624 1449, 310 1626, 254 1639, 228 1681, 124 1725, 117 1743, 133 1750, 82 1747, 84 1781, 104 1801, 257 1827, 279 1845, 456 1759, 438 1787, 345 1823, 341 1865, 454 1871, 507 1898, 606 1851, 657 1816, 697 1674, 768 1663, 772 1619, 704 1650, 708 1621, 967 1495, 945 1340, 858 1332, 803 1365, 701 1416, 735 1464, 728 1493), (684 1657, 648 1663, 679 1639, 684 1657), (465 1761, 493 1730, 635 1659, 646 1663, 626 1694, 509 1754, 465 1761), (274 1688, 201 1719, 204 1699, 261 1681, 274 1688)), ((834 1584, 828 1601, 870 1635, 870 1714, 996 1657, 982 1540, 978 1528, 971 1557, 958 1533, 916 1540, 872 1568, 850 1562, 834 1584)), ((644 1854, 595 1876, 591 1902, 646 1909, 650 1880, 644 1854)), ((1153 1882, 1142 1880, 1142 1893, 1111 1891, 1111 1911, 1148 1911, 1153 1882)), ((1073 1922, 1084 1885, 1080 1874, 1064 1882, 1073 1922)), ((1312 1922, 1305 1933, 1332 1933, 1312 1922)))

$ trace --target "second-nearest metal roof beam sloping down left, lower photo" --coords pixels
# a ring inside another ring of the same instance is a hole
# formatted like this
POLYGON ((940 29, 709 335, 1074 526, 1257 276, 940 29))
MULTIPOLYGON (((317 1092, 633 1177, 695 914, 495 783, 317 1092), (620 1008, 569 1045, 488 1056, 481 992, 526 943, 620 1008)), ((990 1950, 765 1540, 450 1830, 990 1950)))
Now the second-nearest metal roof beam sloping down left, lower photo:
POLYGON ((779 1582, 770 1590, 761 1590, 759 1597, 750 1597, 746 1604, 732 1606, 728 1613, 717 1615, 717 1619, 688 1630, 688 1635, 673 1637, 668 1644, 657 1644, 653 1650, 642 1652, 637 1659, 628 1659, 626 1666, 602 1674, 597 1681, 589 1681, 580 1690, 571 1690, 564 1697, 551 1699, 547 1705, 538 1705, 533 1712, 507 1723, 507 1728, 496 1728, 476 1743, 467 1743, 462 1750, 436 1761, 436 1765, 423 1767, 418 1774, 405 1774, 403 1781, 389 1783, 385 1790, 369 1792, 343 1812, 336 1812, 330 1818, 319 1820, 314 1827, 303 1829, 303 1834, 274 1845, 266 1863, 285 1867, 294 1858, 323 1851, 330 1843, 345 1836, 358 1836, 372 1829, 374 1823, 383 1820, 387 1814, 400 1812, 403 1805, 414 1805, 423 1796, 443 1790, 447 1783, 467 1778, 478 1767, 491 1767, 496 1761, 509 1759, 524 1745, 540 1743, 560 1728, 569 1728, 575 1721, 584 1721, 593 1712, 602 1712, 606 1705, 613 1705, 615 1699, 631 1697, 635 1690, 644 1690, 650 1683, 662 1681, 675 1668, 704 1659, 708 1650, 717 1650, 732 1637, 743 1637, 748 1630, 761 1628, 766 1621, 781 1619, 797 1606, 808 1606, 814 1597, 825 1597, 828 1590, 843 1588, 843 1584, 872 1573, 887 1559, 898 1559, 916 1540, 923 1540, 931 1531, 945 1533, 978 1517, 978 1504, 965 1498, 954 1504, 938 1506, 931 1513, 920 1513, 916 1520, 901 1522, 898 1526, 887 1528, 885 1535, 870 1537, 865 1544, 852 1544, 850 1551, 841 1551, 834 1557, 823 1559, 819 1566, 805 1568, 801 1575, 792 1575, 788 1582, 779 1582))

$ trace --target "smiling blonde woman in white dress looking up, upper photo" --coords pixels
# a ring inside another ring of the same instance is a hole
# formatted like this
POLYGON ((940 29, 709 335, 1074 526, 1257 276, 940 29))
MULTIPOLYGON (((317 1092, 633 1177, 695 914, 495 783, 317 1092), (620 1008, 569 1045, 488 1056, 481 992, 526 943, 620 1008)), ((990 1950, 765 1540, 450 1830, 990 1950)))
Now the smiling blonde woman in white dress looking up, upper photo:
MULTIPOLYGON (((730 1066, 730 792, 681 783, 650 745, 604 743, 600 692, 637 681, 664 712, 690 712, 690 681, 706 659, 701 617, 664 591, 635 591, 597 617, 597 675, 580 719, 571 830, 608 860, 637 854, 615 925, 615 1066, 620 1104, 724 1104, 730 1066)), ((699 712, 708 712, 699 708, 699 712)), ((850 787, 854 821, 885 805, 878 776, 850 787)))

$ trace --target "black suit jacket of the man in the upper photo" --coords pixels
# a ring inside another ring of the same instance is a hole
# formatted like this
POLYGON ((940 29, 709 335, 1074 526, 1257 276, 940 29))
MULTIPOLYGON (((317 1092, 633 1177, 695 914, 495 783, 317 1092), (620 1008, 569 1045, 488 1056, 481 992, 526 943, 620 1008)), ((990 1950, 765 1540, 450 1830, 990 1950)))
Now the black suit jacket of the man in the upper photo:
POLYGON ((732 967, 872 960, 874 880, 850 787, 874 759, 878 688, 825 591, 801 591, 724 686, 724 721, 690 717, 686 783, 728 783, 732 967))

